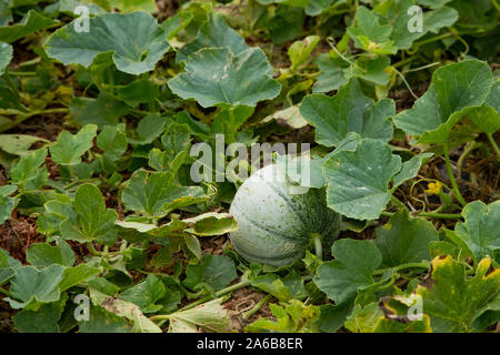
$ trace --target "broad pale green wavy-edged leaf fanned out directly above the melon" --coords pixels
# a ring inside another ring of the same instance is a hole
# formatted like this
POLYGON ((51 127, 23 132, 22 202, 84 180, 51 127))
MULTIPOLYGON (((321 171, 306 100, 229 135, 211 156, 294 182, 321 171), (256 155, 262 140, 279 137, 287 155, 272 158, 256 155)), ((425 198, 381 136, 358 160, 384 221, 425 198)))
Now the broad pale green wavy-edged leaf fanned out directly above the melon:
POLYGON ((233 54, 227 48, 202 49, 186 61, 186 73, 169 80, 182 99, 194 99, 203 108, 220 104, 254 106, 276 98, 281 84, 259 48, 233 54))

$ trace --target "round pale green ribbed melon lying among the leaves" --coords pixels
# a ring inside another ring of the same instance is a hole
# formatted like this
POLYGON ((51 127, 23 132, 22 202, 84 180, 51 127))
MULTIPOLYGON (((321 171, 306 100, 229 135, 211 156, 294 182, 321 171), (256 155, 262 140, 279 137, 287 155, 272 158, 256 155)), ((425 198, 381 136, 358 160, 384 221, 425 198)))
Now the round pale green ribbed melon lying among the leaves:
POLYGON ((273 266, 300 260, 311 245, 311 234, 323 236, 323 251, 339 235, 340 215, 327 207, 324 191, 309 189, 292 194, 276 164, 260 169, 240 186, 229 212, 238 222, 230 239, 248 261, 273 266))

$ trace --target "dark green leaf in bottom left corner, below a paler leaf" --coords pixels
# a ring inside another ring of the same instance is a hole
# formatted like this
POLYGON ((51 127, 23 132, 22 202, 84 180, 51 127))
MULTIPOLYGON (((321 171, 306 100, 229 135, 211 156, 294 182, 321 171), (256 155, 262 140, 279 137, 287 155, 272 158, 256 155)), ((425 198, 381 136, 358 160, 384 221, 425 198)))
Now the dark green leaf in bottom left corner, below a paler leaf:
POLYGON ((59 320, 64 311, 68 295, 61 300, 44 303, 37 311, 22 310, 16 313, 12 321, 20 333, 59 333, 59 320))

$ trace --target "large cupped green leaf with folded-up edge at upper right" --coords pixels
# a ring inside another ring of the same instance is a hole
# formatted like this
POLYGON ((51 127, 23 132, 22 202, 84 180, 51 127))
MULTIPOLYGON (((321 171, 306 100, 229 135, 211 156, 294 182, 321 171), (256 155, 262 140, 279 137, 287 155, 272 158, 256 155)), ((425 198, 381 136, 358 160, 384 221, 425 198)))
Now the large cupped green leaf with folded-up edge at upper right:
POLYGON ((421 143, 443 143, 453 125, 481 105, 492 85, 486 62, 467 60, 438 69, 429 90, 410 110, 394 116, 394 124, 407 134, 420 135, 421 143))

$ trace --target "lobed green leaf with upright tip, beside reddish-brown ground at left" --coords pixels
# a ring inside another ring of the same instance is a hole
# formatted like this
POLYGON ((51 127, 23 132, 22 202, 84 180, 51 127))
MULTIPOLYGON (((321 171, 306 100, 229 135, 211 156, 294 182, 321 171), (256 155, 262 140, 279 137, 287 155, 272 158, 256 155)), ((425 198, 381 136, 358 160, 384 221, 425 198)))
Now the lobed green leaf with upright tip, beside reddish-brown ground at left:
POLYGON ((107 209, 104 199, 98 187, 83 184, 78 187, 72 203, 74 215, 66 215, 61 223, 61 234, 64 240, 77 242, 98 241, 113 244, 117 237, 114 222, 117 211, 107 209))

